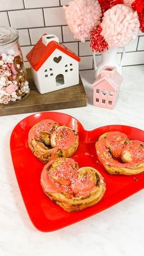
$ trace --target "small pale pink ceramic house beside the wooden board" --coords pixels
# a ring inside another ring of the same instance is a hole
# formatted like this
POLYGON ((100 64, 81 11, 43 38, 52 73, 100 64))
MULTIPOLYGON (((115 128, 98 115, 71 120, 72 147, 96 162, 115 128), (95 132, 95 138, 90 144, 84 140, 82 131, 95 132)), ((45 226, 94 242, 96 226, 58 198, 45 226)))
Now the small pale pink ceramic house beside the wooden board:
POLYGON ((93 105, 115 108, 122 79, 115 67, 104 67, 93 83, 93 105))

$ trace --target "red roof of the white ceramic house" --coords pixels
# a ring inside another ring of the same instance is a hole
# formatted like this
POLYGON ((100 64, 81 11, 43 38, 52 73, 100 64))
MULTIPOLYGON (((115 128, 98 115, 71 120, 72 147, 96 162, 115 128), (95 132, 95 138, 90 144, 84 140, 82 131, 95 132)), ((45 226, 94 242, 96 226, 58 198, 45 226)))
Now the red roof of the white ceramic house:
POLYGON ((42 37, 31 49, 31 51, 27 54, 26 57, 29 63, 31 64, 32 68, 34 68, 35 71, 38 71, 41 65, 43 65, 46 59, 48 59, 48 57, 51 56, 55 49, 59 49, 60 51, 72 57, 73 59, 76 59, 77 61, 81 60, 78 56, 76 56, 75 53, 73 53, 73 51, 71 51, 64 45, 57 43, 56 41, 49 42, 47 46, 44 45, 44 43, 42 42, 42 37))

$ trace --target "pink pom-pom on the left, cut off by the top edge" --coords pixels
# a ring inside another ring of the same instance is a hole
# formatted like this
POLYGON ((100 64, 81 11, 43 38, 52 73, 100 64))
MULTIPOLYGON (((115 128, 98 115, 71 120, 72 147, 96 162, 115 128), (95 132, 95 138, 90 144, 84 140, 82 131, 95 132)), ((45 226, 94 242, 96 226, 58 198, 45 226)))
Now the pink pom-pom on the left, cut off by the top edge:
POLYGON ((74 38, 85 42, 90 37, 93 27, 101 22, 101 7, 98 0, 74 0, 65 9, 65 17, 74 38))

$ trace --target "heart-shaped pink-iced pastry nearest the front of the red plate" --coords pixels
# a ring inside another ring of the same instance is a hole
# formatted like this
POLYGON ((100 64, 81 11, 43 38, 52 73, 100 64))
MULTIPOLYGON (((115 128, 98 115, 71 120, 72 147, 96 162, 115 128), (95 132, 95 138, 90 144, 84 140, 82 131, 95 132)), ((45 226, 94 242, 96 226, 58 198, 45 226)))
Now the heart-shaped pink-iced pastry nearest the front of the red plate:
POLYGON ((52 159, 43 168, 40 182, 45 194, 68 212, 95 205, 106 191, 98 170, 79 168, 72 158, 52 159))

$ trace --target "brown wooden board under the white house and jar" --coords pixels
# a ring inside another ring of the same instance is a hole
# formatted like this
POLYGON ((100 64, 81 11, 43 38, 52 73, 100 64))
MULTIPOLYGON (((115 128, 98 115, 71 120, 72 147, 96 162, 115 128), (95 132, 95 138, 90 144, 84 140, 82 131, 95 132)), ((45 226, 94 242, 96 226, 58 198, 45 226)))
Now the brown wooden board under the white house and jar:
POLYGON ((0 116, 87 106, 87 96, 81 77, 76 86, 40 94, 34 85, 30 69, 27 69, 27 76, 31 89, 29 95, 16 103, 0 104, 0 116))

